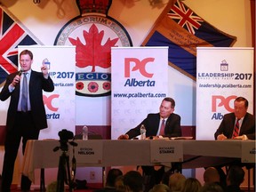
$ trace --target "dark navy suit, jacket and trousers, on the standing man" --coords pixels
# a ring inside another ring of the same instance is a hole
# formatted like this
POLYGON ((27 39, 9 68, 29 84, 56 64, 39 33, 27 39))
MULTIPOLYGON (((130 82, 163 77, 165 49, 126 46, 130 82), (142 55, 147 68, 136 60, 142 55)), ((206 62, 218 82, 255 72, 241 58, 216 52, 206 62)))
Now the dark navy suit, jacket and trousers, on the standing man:
MULTIPOLYGON (((19 112, 18 103, 20 99, 20 83, 16 84, 15 89, 9 92, 9 85, 18 72, 7 76, 4 88, 0 92, 0 100, 7 100, 11 97, 7 112, 7 132, 4 141, 4 166, 2 173, 2 191, 10 191, 14 162, 22 138, 22 152, 24 154, 27 140, 37 140, 41 129, 47 128, 46 114, 43 101, 43 90, 52 92, 54 84, 50 76, 44 78, 43 73, 31 70, 29 79, 29 100, 31 110, 19 112)), ((22 175, 21 189, 29 190, 31 181, 22 175)))

